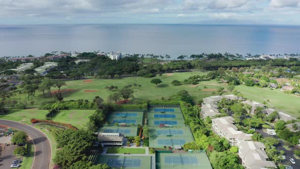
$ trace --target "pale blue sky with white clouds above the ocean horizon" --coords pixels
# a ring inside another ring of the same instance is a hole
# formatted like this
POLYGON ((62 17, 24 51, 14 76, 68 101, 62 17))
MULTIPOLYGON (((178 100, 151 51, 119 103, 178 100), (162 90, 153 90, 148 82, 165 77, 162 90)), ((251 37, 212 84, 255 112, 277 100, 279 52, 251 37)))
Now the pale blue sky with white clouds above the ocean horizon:
POLYGON ((52 23, 300 25, 300 0, 0 0, 0 24, 52 23))

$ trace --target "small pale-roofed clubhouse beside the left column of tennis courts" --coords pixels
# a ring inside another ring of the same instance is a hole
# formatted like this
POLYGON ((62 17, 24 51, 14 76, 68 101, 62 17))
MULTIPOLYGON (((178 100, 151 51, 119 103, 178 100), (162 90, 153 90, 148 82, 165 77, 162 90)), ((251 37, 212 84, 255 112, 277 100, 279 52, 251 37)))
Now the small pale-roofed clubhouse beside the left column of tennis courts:
POLYGON ((122 146, 124 135, 121 133, 98 133, 98 139, 102 145, 105 146, 122 146))

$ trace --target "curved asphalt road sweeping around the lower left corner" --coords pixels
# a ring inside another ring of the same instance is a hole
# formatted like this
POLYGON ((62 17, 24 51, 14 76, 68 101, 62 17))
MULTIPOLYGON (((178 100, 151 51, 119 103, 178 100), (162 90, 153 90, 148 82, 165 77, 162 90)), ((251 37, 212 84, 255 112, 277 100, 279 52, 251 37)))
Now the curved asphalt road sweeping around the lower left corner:
POLYGON ((25 131, 29 137, 33 139, 35 144, 35 158, 31 167, 32 169, 49 168, 51 160, 51 145, 47 136, 43 132, 35 127, 9 120, 0 119, 0 124, 25 131))

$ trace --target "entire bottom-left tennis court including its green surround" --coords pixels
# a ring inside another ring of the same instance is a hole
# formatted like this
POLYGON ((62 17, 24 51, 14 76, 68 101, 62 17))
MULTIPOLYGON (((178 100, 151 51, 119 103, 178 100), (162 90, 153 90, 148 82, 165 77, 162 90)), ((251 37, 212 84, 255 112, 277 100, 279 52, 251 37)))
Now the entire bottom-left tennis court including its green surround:
POLYGON ((97 163, 107 164, 112 168, 151 168, 151 156, 111 156, 101 155, 97 163))

